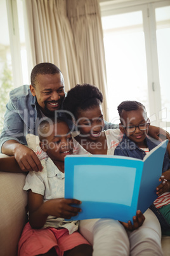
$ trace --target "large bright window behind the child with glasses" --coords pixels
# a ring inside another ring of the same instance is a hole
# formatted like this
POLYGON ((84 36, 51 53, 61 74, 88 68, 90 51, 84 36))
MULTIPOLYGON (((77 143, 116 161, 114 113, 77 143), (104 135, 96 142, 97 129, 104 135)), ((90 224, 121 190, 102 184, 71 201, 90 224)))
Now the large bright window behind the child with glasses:
POLYGON ((110 122, 119 122, 122 101, 136 100, 146 106, 153 125, 170 131, 169 1, 101 0, 100 5, 110 122))

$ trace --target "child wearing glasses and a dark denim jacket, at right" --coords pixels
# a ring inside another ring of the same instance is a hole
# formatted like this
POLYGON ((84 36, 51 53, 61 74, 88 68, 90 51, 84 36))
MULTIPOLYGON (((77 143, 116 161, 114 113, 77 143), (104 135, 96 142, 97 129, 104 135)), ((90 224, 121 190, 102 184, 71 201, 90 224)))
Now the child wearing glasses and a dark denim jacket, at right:
MULTIPOLYGON (((143 159, 150 150, 157 146, 147 136, 150 121, 147 118, 145 106, 138 101, 123 101, 117 110, 121 120, 119 126, 124 136, 115 148, 115 155, 143 159)), ((167 152, 164 156, 162 172, 167 182, 164 186, 159 185, 160 189, 157 191, 159 197, 151 207, 160 220, 162 234, 170 236, 170 160, 167 152)))

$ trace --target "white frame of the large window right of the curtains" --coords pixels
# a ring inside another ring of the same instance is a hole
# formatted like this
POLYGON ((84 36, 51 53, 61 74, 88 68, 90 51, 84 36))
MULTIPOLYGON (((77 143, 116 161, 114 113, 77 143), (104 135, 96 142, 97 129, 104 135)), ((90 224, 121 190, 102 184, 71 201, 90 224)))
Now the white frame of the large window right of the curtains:
POLYGON ((99 0, 101 17, 117 15, 133 11, 142 11, 143 13, 143 31, 145 34, 145 49, 147 60, 147 78, 148 78, 148 99, 150 107, 150 118, 152 124, 170 127, 170 122, 164 122, 161 115, 161 97, 159 82, 159 62, 157 54, 157 35, 155 22, 155 8, 169 6, 169 0, 141 0, 127 1, 122 3, 115 1, 99 0), (166 123, 166 124, 165 124, 166 123))

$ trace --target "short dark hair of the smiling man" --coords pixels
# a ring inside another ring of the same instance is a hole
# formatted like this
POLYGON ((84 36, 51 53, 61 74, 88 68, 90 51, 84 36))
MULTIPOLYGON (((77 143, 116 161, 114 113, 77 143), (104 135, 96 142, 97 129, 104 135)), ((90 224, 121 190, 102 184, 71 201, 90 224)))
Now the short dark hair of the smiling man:
POLYGON ((32 72, 30 74, 30 83, 35 88, 37 75, 55 75, 58 73, 62 72, 57 66, 55 66, 55 64, 49 62, 39 63, 32 69, 32 72))

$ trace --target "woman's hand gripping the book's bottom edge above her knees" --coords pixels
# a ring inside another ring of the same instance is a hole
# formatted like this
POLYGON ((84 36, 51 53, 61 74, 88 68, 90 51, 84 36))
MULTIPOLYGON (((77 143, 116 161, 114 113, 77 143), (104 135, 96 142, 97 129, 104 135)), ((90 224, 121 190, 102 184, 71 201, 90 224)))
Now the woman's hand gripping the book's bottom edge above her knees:
POLYGON ((133 224, 129 220, 128 223, 121 222, 121 224, 125 227, 125 229, 128 229, 128 231, 134 231, 135 229, 138 229, 144 222, 145 216, 141 213, 140 210, 136 211, 136 216, 133 217, 133 224))

